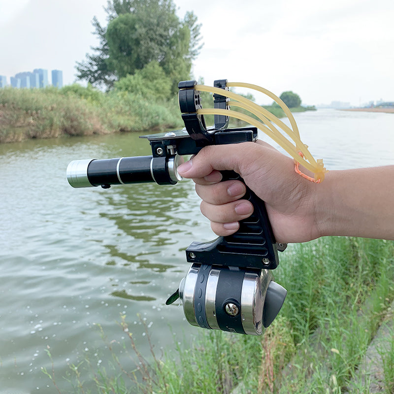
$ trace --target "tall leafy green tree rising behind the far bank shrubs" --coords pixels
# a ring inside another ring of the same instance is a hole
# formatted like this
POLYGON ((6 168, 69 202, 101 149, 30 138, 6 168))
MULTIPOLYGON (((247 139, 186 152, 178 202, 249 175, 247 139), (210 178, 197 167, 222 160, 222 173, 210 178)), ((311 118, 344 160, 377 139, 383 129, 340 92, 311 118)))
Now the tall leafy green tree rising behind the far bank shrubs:
POLYGON ((179 80, 190 77, 201 48, 200 25, 192 12, 180 20, 172 0, 108 0, 105 11, 106 28, 93 19, 99 46, 77 63, 78 79, 110 89, 150 62, 163 68, 173 91, 179 80))

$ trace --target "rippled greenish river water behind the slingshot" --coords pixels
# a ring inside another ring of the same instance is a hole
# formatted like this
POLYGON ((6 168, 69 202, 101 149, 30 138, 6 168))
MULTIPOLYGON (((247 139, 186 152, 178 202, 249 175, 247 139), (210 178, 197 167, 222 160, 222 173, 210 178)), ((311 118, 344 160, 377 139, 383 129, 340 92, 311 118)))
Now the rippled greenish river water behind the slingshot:
MULTIPOLYGON (((295 117, 328 169, 394 163, 394 114, 295 117)), ((196 334, 180 306, 164 305, 189 267, 185 248, 214 238, 193 183, 102 190, 72 189, 66 180, 75 159, 149 154, 137 134, 0 145, 0 394, 57 392, 41 371, 52 361, 56 384, 71 390, 69 366, 104 365, 110 343, 131 369, 121 315, 145 355, 144 324, 159 354, 196 334)))

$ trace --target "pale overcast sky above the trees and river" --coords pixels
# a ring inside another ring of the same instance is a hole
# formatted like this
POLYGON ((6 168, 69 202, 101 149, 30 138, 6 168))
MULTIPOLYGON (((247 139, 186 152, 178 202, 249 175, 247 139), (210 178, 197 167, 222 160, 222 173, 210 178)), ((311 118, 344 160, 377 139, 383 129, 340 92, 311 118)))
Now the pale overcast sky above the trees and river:
MULTIPOLYGON (((393 0, 174 0, 194 11, 204 46, 193 67, 206 84, 249 82, 304 104, 394 101, 393 0)), ((97 44, 91 20, 105 26, 106 0, 0 0, 0 75, 63 70, 97 44)), ((256 95, 255 95, 256 96, 256 95)), ((257 96, 261 103, 270 99, 257 96)))

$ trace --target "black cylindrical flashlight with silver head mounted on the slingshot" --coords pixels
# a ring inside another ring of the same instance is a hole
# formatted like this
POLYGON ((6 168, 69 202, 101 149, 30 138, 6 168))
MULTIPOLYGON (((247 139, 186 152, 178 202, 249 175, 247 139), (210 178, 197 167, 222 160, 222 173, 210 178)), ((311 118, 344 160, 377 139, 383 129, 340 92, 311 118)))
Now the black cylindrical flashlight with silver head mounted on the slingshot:
POLYGON ((85 188, 130 183, 156 182, 174 185, 182 180, 177 167, 181 156, 135 156, 116 159, 74 160, 67 166, 67 180, 73 188, 85 188))

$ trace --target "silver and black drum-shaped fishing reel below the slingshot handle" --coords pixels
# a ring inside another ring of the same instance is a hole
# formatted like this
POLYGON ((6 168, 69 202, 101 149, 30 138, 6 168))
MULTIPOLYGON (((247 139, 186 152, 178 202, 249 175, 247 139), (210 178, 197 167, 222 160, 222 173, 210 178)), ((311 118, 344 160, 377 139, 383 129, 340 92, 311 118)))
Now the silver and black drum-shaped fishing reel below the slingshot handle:
POLYGON ((197 327, 261 335, 287 291, 271 271, 193 263, 179 286, 187 321, 197 327))

